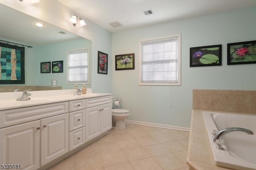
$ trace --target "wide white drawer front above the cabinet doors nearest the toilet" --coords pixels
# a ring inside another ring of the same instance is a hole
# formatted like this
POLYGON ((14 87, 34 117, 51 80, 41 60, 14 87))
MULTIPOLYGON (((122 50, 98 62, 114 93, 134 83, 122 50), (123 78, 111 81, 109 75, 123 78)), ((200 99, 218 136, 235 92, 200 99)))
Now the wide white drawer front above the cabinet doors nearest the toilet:
POLYGON ((111 95, 102 96, 102 97, 93 97, 93 98, 85 99, 85 105, 86 105, 86 108, 88 108, 88 107, 103 105, 106 103, 111 103, 111 101, 112 101, 111 95))

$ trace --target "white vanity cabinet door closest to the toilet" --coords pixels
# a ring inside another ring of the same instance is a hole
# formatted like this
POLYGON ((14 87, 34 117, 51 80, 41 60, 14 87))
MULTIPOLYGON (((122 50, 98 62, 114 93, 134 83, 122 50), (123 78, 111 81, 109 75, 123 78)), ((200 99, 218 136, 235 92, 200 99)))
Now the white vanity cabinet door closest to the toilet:
POLYGON ((108 103, 101 105, 101 133, 106 132, 112 128, 112 104, 108 103))

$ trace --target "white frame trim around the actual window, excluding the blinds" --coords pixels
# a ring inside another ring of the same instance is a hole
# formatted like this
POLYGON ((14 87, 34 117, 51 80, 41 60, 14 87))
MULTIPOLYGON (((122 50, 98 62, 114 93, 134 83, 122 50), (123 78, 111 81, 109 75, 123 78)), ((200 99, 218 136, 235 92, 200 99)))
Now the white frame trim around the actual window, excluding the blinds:
POLYGON ((174 34, 171 36, 162 36, 162 37, 157 37, 157 38, 148 38, 148 39, 143 39, 139 40, 139 57, 138 57, 138 84, 139 85, 181 85, 181 34, 174 34), (166 83, 153 83, 153 82, 141 82, 142 78, 142 45, 141 42, 145 41, 153 41, 153 40, 161 40, 161 39, 166 39, 166 38, 174 38, 178 37, 178 82, 177 83, 171 83, 171 82, 166 82, 166 83))

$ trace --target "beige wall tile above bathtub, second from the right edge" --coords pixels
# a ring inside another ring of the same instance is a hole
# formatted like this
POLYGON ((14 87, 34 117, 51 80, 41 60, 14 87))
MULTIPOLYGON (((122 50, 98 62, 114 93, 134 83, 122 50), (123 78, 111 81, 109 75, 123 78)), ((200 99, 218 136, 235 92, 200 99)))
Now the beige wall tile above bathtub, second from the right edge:
POLYGON ((226 111, 241 112, 242 111, 242 95, 227 94, 226 95, 226 111))

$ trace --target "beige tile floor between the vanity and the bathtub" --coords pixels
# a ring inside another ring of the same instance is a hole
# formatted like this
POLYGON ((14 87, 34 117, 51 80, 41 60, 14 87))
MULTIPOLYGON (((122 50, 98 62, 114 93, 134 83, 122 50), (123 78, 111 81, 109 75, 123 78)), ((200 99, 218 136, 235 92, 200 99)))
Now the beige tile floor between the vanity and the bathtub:
POLYGON ((189 132, 126 124, 48 170, 188 170, 189 132))

